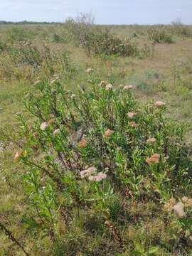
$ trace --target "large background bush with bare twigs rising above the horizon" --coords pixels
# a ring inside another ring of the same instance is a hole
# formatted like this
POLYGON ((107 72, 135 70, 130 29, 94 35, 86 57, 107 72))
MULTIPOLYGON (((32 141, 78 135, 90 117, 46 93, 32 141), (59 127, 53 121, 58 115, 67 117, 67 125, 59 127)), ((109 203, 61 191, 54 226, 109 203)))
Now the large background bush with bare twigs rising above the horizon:
POLYGON ((80 19, 76 22, 70 19, 65 23, 73 35, 76 45, 82 46, 88 56, 94 55, 122 55, 137 56, 139 50, 135 43, 129 40, 122 40, 107 29, 94 26, 90 22, 80 19), (81 21, 81 22, 80 22, 81 21))

